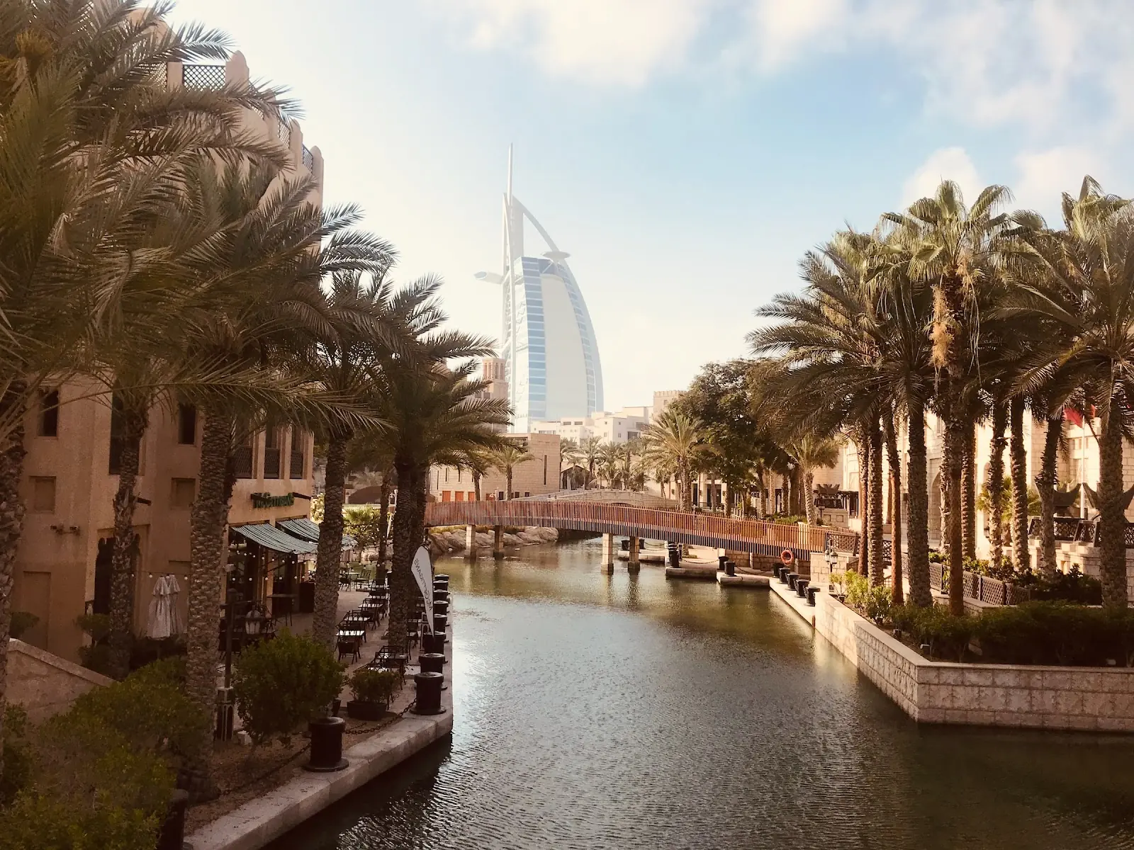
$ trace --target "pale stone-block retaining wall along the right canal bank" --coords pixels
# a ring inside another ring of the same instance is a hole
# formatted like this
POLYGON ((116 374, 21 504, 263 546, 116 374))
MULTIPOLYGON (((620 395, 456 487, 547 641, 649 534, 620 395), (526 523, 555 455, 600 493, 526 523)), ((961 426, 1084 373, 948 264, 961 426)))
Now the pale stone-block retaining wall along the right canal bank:
POLYGON ((916 721, 1134 732, 1134 668, 930 661, 826 593, 810 607, 771 586, 916 721))

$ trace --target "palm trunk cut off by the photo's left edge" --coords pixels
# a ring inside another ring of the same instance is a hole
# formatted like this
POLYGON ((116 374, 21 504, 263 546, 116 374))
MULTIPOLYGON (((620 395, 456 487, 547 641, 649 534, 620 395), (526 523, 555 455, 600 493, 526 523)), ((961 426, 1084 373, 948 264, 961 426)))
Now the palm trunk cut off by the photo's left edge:
MULTIPOLYGON (((25 403, 23 381, 14 381, 0 399, 0 410, 12 411, 25 403)), ((3 715, 5 695, 8 689, 8 635, 11 628, 11 594, 16 584, 16 554, 24 530, 24 500, 19 498, 19 482, 24 477, 24 425, 16 417, 16 425, 3 437, 0 452, 0 775, 3 772, 3 715)))

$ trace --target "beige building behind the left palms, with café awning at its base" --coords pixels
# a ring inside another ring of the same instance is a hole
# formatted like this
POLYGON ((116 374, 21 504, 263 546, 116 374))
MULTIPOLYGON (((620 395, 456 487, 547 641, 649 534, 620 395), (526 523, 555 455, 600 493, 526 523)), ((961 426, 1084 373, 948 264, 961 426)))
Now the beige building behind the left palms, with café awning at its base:
MULTIPOLYGON (((226 65, 167 67, 170 86, 214 87, 246 82, 240 53, 226 65)), ((322 184, 323 161, 307 148, 294 121, 248 112, 246 126, 278 138, 291 152, 295 171, 306 170, 322 184)), ((321 203, 316 190, 312 197, 321 203)), ((39 622, 24 640, 68 660, 77 660, 84 636, 75 624, 83 613, 109 609, 109 568, 113 543, 112 500, 118 488, 117 417, 110 399, 81 398, 96 388, 68 382, 45 392, 25 420, 27 456, 22 496, 27 508, 15 567, 14 611, 28 611, 39 622)), ((189 509, 196 495, 201 417, 192 407, 176 413, 155 408, 142 443, 141 496, 135 513, 138 554, 135 570, 135 630, 144 632, 154 583, 175 576, 185 613, 189 566, 189 509)), ((229 510, 231 527, 273 525, 310 513, 313 440, 287 425, 249 435, 237 450, 237 482, 229 510)), ((253 532, 249 532, 252 534, 253 532)), ((297 555, 313 545, 284 532, 262 530, 260 543, 234 534, 231 547, 242 562, 247 589, 263 598, 285 573, 293 578, 297 555), (277 552, 272 541, 289 552, 277 552), (288 541, 295 541, 295 544, 288 541), (286 564, 285 564, 286 562, 286 564), (280 570, 280 566, 286 570, 280 570)), ((243 572, 242 572, 243 570, 243 572)), ((218 584, 218 603, 221 587, 218 584)))

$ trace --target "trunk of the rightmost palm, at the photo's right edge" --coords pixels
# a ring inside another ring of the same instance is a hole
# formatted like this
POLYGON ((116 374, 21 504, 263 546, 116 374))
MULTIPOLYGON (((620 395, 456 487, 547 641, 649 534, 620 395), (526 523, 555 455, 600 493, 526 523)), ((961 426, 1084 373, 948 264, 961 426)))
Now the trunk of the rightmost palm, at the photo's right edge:
POLYGON ((1126 607, 1126 505, 1134 488, 1123 492, 1123 434, 1117 422, 1118 401, 1111 401, 1109 417, 1099 435, 1099 578, 1102 606, 1126 607))

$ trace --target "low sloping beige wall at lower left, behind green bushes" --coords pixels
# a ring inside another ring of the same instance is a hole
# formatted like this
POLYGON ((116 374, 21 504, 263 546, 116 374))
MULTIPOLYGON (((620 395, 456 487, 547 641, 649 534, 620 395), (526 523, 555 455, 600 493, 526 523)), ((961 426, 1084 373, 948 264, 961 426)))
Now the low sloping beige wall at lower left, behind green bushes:
POLYGON ((23 640, 8 643, 8 699, 35 722, 67 711, 77 697, 111 682, 23 640))

